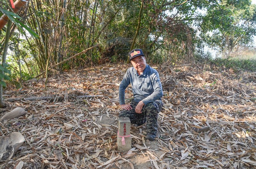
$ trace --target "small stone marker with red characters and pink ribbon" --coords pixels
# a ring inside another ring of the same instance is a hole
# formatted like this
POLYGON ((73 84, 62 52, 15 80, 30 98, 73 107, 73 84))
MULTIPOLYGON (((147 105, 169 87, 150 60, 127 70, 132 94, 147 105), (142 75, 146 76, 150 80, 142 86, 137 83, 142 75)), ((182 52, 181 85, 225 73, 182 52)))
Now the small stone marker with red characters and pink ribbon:
POLYGON ((120 117, 118 119, 117 131, 117 150, 129 151, 132 146, 132 137, 130 135, 131 121, 128 117, 120 117))

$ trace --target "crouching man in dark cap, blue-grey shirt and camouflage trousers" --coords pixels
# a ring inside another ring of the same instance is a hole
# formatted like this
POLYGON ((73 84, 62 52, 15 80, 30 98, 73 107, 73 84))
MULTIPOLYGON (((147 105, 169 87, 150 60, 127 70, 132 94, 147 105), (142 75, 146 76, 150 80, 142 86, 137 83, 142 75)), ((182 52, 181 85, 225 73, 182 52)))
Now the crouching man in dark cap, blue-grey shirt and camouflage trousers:
POLYGON ((140 126, 147 121, 148 140, 155 140, 157 132, 157 117, 163 107, 162 84, 158 72, 147 63, 141 49, 129 52, 132 63, 119 86, 119 101, 123 109, 119 117, 129 117, 132 124, 140 126), (132 85, 133 99, 131 104, 125 104, 124 92, 132 85))

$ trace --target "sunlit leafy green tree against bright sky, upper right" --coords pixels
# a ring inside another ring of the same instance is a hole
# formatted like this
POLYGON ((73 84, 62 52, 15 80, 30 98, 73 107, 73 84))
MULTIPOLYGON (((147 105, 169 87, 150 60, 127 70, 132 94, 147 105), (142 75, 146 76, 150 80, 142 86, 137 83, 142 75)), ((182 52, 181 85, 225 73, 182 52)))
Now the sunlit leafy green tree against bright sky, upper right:
POLYGON ((241 47, 252 46, 256 33, 256 5, 249 0, 223 0, 210 5, 202 17, 201 37, 223 56, 231 56, 241 47))

